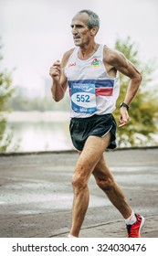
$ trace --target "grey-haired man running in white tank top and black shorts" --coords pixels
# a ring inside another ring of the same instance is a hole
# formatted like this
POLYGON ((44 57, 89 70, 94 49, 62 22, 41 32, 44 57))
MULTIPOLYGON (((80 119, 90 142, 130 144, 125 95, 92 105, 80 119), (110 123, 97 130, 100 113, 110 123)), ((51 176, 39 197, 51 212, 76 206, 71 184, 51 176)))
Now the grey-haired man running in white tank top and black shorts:
POLYGON ((61 101, 67 88, 69 90, 69 130, 72 143, 79 151, 72 178, 74 199, 68 237, 79 237, 89 206, 88 182, 92 174, 97 185, 121 212, 128 237, 139 238, 144 218, 127 204, 106 164, 104 151, 116 147, 116 123, 111 113, 115 110, 120 91, 119 72, 130 78, 125 99, 120 105, 120 126, 129 122, 129 104, 138 91, 142 76, 121 52, 95 42, 99 27, 100 19, 94 12, 79 11, 71 23, 76 48, 68 50, 61 63, 57 60, 49 71, 55 101, 61 101))

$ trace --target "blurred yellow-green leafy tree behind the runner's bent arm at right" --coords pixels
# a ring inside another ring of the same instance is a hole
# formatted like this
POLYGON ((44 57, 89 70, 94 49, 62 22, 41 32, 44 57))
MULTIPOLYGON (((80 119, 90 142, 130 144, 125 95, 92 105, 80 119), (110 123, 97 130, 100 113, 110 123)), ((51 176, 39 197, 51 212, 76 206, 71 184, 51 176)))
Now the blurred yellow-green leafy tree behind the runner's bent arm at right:
MULTIPOLYGON (((127 59, 130 59, 142 72, 142 84, 130 106, 130 123, 117 130, 118 145, 152 145, 154 144, 152 134, 158 131, 156 123, 158 117, 158 101, 156 99, 158 91, 157 87, 155 88, 151 83, 155 70, 155 60, 150 59, 147 63, 144 63, 143 59, 140 60, 138 47, 132 42, 131 37, 127 37, 124 41, 118 38, 115 48, 121 51, 127 59)), ((121 93, 114 112, 116 120, 119 119, 119 104, 124 99, 128 82, 128 78, 121 74, 121 93)))

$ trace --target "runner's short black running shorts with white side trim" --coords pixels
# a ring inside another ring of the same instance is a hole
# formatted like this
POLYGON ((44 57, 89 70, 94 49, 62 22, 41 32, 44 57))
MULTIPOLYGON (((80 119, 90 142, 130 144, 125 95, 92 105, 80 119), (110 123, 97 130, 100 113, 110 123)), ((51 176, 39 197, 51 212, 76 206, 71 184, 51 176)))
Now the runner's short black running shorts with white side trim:
POLYGON ((73 145, 81 151, 89 136, 103 137, 111 133, 111 143, 108 148, 116 147, 116 122, 111 113, 104 115, 92 115, 87 118, 71 118, 69 132, 73 145))

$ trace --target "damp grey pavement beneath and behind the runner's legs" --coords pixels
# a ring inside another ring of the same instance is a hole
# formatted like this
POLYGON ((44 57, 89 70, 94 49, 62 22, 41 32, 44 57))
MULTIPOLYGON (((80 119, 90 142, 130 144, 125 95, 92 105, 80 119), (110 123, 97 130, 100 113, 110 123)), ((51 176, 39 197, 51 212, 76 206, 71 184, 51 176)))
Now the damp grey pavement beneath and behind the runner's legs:
MULTIPOLYGON (((131 208, 145 217, 142 237, 158 237, 158 148, 105 153, 131 208)), ((67 237, 76 152, 0 156, 0 237, 67 237)), ((90 178, 80 237, 125 237, 121 214, 90 178)))

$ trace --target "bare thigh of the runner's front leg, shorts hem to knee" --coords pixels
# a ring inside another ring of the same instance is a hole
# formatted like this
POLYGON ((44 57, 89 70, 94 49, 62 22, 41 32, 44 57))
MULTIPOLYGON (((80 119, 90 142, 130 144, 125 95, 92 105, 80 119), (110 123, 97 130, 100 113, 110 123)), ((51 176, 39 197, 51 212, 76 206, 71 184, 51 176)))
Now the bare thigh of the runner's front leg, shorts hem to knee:
POLYGON ((79 155, 76 165, 76 173, 87 178, 90 177, 94 167, 100 161, 100 158, 111 141, 111 133, 104 137, 90 136, 79 155))

